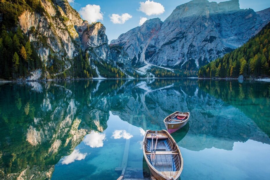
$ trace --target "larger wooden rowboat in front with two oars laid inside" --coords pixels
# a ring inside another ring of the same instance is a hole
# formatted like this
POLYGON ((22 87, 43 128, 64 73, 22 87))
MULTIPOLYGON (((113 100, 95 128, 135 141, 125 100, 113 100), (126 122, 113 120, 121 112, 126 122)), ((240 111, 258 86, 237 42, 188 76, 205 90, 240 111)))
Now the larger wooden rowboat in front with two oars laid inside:
POLYGON ((166 130, 145 132, 143 155, 152 175, 157 180, 179 179, 183 170, 183 158, 177 143, 166 130), (153 144, 156 144, 156 147, 153 146, 152 149, 153 136, 153 144))

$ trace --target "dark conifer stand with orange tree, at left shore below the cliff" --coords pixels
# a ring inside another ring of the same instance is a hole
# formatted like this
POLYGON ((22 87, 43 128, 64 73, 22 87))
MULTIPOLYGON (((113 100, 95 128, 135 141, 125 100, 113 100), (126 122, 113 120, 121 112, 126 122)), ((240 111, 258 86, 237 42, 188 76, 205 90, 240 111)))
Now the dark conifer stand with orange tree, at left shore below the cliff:
POLYGON ((22 33, 20 28, 7 31, 2 26, 0 32, 0 77, 18 78, 42 67, 42 61, 34 44, 22 33))

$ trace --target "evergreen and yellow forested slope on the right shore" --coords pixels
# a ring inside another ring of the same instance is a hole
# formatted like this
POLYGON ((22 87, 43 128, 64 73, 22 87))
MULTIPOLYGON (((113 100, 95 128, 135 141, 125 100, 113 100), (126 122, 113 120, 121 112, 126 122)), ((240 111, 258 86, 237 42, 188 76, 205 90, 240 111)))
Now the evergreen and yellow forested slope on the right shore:
POLYGON ((246 44, 222 58, 202 66, 199 78, 236 78, 270 76, 270 23, 246 44))

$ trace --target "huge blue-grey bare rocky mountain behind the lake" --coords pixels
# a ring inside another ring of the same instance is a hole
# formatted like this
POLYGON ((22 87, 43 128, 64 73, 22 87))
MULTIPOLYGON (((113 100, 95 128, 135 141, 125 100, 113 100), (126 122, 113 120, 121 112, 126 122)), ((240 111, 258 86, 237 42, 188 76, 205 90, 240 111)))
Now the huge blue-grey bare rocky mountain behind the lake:
POLYGON ((145 21, 111 44, 122 46, 136 65, 197 69, 244 44, 269 19, 270 8, 240 9, 238 0, 193 0, 177 6, 164 22, 145 21))

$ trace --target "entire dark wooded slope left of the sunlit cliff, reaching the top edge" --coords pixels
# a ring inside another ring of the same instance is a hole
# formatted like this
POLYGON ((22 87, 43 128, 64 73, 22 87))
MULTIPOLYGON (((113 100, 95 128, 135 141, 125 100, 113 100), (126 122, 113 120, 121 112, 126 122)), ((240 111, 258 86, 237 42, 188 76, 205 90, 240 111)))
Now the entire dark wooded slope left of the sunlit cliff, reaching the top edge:
POLYGON ((26 76, 28 71, 42 67, 37 49, 17 27, 19 15, 24 10, 33 11, 33 9, 37 13, 44 12, 40 1, 0 2, 2 13, 2 21, 0 22, 0 77, 2 78, 26 76))

